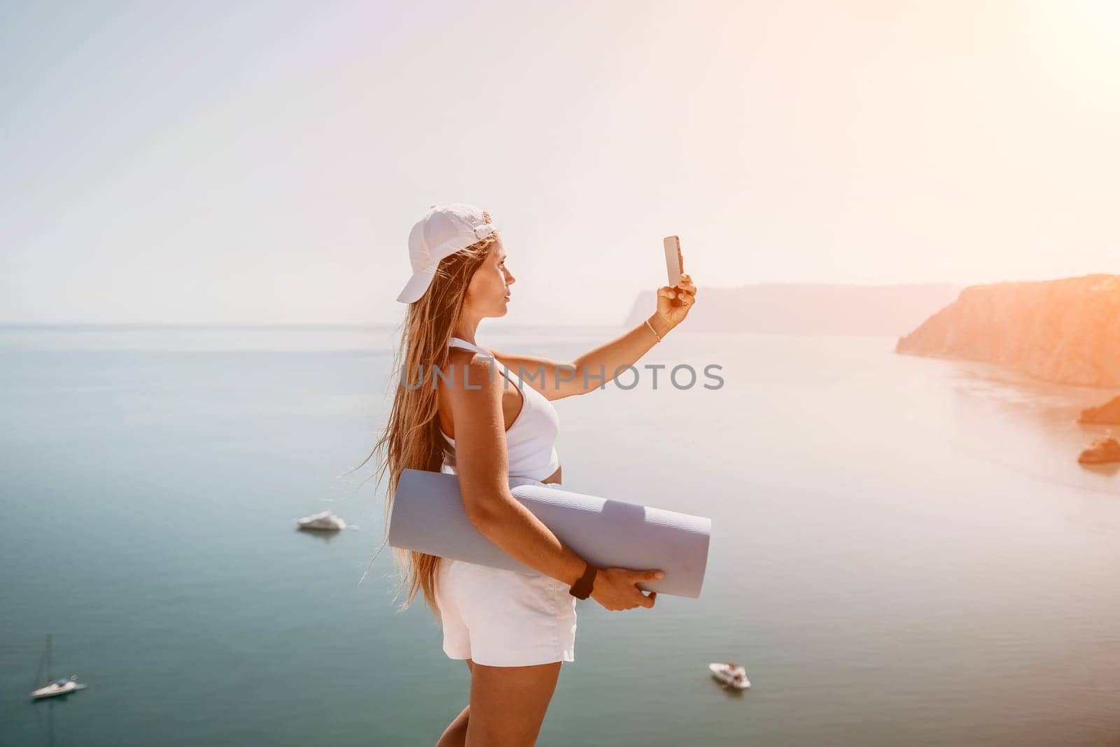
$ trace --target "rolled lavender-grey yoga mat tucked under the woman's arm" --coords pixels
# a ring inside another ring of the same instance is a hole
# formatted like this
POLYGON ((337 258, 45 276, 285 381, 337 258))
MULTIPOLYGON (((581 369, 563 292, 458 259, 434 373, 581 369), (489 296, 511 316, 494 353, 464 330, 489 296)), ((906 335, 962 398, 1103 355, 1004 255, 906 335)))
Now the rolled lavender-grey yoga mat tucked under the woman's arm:
MULTIPOLYGON (((708 566, 711 519, 511 479, 513 497, 577 555, 600 568, 657 569, 638 588, 697 598, 708 566)), ((404 470, 389 518, 389 545, 494 568, 540 574, 467 519, 458 475, 404 470)))

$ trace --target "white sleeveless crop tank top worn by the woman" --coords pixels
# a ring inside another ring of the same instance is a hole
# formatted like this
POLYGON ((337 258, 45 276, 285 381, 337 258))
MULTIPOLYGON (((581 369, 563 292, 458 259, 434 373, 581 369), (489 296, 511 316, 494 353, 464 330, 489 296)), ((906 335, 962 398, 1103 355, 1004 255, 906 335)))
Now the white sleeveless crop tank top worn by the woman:
MULTIPOLYGON (((493 358, 486 350, 459 338, 451 338, 449 347, 467 348, 493 358)), ((505 376, 508 382, 506 386, 513 386, 521 391, 521 412, 505 432, 505 446, 510 454, 510 476, 544 480, 560 466, 560 457, 556 450, 557 436, 560 434, 560 416, 557 415, 548 397, 531 385, 524 384, 521 377, 502 361, 494 358, 494 362, 505 376)), ((439 432, 450 444, 444 464, 450 466, 454 473, 456 472, 455 439, 444 433, 442 428, 439 432)))

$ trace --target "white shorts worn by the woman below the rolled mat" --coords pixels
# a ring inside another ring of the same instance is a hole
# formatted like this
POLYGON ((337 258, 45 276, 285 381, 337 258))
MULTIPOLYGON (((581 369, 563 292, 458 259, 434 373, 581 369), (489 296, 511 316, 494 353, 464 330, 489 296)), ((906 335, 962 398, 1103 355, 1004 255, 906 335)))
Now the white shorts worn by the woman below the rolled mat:
POLYGON ((536 571, 441 558, 436 573, 444 653, 486 666, 576 661, 576 602, 536 571))

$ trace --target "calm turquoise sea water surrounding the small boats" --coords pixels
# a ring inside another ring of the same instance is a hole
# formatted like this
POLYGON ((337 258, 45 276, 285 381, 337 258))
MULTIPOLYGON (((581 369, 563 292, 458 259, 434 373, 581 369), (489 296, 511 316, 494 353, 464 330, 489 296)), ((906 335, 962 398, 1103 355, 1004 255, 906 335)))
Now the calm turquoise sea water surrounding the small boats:
MULTIPOLYGON (((570 357, 615 329, 484 328, 570 357)), ((389 329, 0 328, 0 744, 432 745, 467 702, 394 612, 368 453, 389 329), (360 526, 293 531, 332 508, 360 526), (47 633, 55 677, 32 703, 47 633)), ((1120 394, 895 356, 893 338, 690 335, 724 388, 557 403, 566 488, 713 521, 699 599, 579 604, 540 745, 1120 744, 1120 394), (711 661, 746 666, 730 694, 711 661)))

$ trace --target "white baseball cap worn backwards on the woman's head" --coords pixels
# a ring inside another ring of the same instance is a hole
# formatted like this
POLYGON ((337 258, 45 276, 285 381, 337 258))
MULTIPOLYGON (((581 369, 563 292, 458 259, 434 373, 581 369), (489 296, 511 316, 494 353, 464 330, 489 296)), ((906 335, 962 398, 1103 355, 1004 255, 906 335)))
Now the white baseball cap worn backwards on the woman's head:
POLYGON ((433 205, 428 208, 409 233, 409 261, 412 277, 396 296, 401 303, 412 303, 423 296, 436 268, 444 257, 465 249, 479 239, 497 230, 497 226, 486 223, 482 208, 463 202, 433 205))

